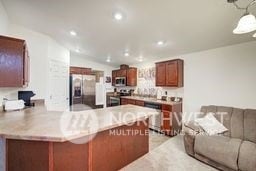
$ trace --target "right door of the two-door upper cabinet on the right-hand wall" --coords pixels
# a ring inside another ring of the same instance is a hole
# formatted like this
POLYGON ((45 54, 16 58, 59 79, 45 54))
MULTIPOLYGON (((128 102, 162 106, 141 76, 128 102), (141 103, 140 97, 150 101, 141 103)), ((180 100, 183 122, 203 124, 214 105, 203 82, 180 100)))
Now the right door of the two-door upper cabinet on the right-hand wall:
POLYGON ((166 63, 166 86, 178 86, 178 61, 166 63))

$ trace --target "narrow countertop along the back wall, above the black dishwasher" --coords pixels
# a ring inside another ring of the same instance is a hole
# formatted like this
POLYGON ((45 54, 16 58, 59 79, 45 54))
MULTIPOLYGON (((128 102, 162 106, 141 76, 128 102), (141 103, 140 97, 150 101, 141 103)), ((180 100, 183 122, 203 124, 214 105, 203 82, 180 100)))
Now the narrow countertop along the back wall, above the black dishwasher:
POLYGON ((139 100, 144 102, 152 102, 152 103, 159 103, 159 104, 166 104, 166 105, 176 105, 181 104, 182 102, 172 102, 172 101, 164 101, 158 100, 156 98, 149 98, 149 97, 140 97, 140 96, 122 96, 123 99, 131 99, 131 100, 139 100))

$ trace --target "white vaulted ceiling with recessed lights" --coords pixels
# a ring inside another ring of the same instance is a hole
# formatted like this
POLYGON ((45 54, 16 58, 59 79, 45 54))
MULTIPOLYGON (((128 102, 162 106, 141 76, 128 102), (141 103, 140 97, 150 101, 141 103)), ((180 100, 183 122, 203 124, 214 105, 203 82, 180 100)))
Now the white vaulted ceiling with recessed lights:
POLYGON ((232 34, 243 12, 226 0, 2 1, 13 23, 51 36, 73 55, 112 66, 255 40, 252 34, 232 34), (124 19, 116 21, 115 12, 124 19), (157 45, 159 40, 165 44, 157 45))

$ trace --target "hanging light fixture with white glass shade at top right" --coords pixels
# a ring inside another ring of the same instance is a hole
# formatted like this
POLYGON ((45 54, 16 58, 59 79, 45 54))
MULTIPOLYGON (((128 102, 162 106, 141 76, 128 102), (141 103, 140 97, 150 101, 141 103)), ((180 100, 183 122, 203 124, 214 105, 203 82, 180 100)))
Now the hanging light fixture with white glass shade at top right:
POLYGON ((233 3, 239 10, 244 10, 244 15, 240 18, 237 27, 233 30, 234 34, 245 34, 256 30, 256 18, 253 14, 249 13, 249 8, 256 3, 256 0, 251 1, 246 7, 240 7, 237 0, 228 0, 229 3, 233 3))

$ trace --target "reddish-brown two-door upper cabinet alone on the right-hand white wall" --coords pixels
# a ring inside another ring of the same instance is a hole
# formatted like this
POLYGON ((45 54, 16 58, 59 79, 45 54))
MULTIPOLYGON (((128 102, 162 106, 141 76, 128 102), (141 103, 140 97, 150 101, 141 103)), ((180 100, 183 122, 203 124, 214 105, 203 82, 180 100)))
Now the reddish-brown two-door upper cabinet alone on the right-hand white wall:
POLYGON ((156 63, 156 86, 183 87, 183 70, 181 59, 156 63))

